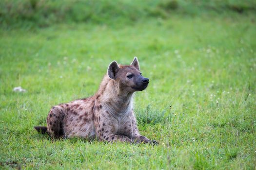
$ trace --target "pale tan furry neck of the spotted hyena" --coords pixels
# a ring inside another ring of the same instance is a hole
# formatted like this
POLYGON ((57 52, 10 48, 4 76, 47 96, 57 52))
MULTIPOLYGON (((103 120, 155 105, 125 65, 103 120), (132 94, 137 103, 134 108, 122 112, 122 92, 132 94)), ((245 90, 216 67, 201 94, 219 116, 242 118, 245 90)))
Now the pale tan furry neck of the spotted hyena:
POLYGON ((103 78, 96 96, 115 113, 127 113, 132 110, 133 93, 120 89, 118 83, 107 75, 103 78))

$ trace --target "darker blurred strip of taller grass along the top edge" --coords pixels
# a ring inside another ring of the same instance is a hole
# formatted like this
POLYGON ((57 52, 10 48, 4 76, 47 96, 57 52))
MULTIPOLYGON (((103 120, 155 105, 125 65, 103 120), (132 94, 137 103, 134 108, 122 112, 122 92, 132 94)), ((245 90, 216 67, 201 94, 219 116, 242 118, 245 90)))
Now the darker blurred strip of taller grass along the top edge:
POLYGON ((255 0, 1 0, 1 26, 127 24, 172 15, 256 14, 255 0))

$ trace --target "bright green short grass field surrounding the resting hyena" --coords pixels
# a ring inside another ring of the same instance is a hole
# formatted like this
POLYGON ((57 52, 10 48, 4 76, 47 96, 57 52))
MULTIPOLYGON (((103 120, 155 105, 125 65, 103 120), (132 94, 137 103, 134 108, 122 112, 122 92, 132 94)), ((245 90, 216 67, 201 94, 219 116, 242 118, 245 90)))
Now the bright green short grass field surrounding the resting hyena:
POLYGON ((0 30, 0 168, 256 168, 254 15, 0 30), (51 140, 51 106, 93 95, 112 60, 138 57, 142 135, 160 145, 51 140), (26 93, 12 89, 21 85, 26 93), (170 107, 171 106, 171 107, 170 107))

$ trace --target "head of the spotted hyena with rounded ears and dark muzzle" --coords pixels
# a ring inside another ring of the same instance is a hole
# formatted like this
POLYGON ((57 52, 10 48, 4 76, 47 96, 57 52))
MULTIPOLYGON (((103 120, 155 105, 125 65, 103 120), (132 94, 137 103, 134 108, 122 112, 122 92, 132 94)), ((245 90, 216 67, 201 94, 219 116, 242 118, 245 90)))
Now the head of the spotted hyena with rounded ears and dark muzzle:
POLYGON ((149 83, 149 79, 143 77, 139 71, 137 57, 128 66, 119 66, 113 61, 108 67, 108 76, 118 83, 120 89, 127 92, 145 90, 149 83))

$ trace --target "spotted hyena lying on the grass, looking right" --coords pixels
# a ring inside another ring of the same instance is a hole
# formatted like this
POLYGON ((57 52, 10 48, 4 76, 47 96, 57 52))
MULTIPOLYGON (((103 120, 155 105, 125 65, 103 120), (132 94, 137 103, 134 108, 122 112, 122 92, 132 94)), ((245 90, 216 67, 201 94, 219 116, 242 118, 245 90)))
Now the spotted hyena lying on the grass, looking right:
POLYGON ((134 92, 146 89, 148 84, 149 79, 140 73, 137 57, 127 66, 113 61, 94 96, 52 107, 47 127, 35 129, 56 138, 80 136, 158 144, 139 134, 133 111, 134 92))

